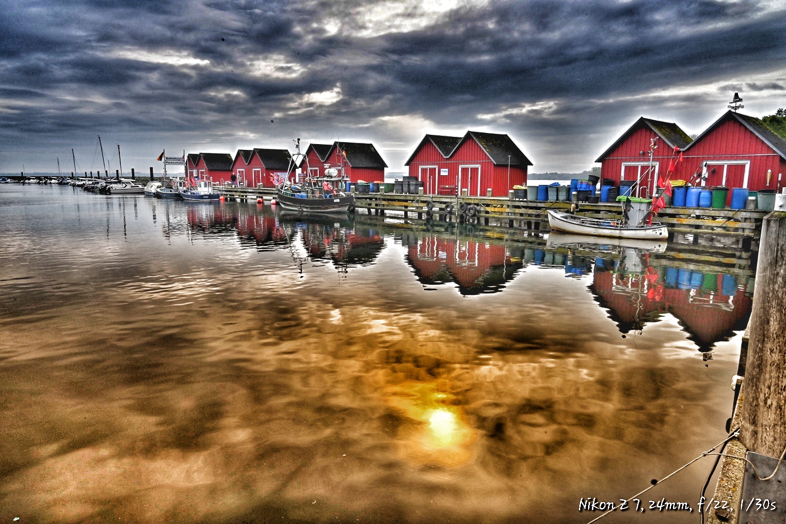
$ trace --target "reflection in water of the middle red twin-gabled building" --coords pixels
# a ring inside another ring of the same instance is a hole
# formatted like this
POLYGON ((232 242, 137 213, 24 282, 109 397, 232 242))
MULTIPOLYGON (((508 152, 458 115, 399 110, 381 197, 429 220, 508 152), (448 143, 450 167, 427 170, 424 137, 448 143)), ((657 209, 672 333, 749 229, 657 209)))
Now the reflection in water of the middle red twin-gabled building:
POLYGON ((504 244, 427 235, 410 244, 407 258, 424 284, 455 282, 462 294, 498 291, 521 262, 512 262, 504 244))

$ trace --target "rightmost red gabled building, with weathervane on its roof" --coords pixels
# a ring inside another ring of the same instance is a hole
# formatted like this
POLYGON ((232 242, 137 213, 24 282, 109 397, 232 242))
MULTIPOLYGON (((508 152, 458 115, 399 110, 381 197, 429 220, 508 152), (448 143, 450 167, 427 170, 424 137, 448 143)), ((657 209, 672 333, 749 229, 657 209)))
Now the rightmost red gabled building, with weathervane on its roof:
POLYGON ((783 173, 784 138, 760 119, 728 111, 685 148, 674 178, 693 178, 696 185, 780 192, 786 185, 783 173))

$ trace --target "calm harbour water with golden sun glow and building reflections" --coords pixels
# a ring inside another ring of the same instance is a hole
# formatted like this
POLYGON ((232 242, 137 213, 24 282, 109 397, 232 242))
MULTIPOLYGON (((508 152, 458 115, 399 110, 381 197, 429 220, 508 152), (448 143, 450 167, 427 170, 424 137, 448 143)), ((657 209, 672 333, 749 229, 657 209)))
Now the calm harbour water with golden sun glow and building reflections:
POLYGON ((749 271, 444 229, 0 186, 2 522, 589 522, 725 437, 749 271))

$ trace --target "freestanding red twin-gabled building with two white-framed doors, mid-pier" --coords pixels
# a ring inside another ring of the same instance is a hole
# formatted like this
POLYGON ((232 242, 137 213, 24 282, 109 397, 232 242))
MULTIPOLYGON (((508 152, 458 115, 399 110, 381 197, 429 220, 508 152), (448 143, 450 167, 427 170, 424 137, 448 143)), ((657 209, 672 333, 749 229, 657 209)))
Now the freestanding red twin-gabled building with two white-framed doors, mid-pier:
POLYGON ((463 137, 427 134, 405 166, 423 182, 424 192, 469 196, 507 196, 513 185, 527 184, 532 163, 507 134, 467 131, 463 137))

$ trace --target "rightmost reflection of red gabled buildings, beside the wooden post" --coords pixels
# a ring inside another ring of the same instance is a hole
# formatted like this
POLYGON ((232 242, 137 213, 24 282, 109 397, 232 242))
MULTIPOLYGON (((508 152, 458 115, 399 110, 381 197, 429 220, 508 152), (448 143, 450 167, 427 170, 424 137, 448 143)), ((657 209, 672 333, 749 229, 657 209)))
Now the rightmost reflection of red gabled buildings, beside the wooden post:
POLYGON ((671 313, 696 344, 710 346, 747 318, 751 299, 745 296, 744 288, 735 288, 732 296, 722 295, 722 291, 717 291, 722 290, 722 275, 708 277, 718 280, 716 291, 667 288, 653 266, 648 266, 645 273, 633 275, 596 270, 593 291, 609 308, 612 320, 623 333, 643 328, 646 321, 655 321, 659 313, 671 313))

